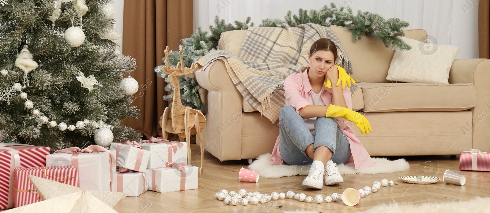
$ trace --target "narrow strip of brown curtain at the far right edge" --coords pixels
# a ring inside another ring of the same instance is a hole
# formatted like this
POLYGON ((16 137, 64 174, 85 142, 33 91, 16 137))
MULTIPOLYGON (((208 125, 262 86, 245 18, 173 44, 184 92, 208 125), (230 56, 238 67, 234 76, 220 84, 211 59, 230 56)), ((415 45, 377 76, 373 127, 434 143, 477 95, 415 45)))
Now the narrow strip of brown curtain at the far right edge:
POLYGON ((478 55, 490 58, 490 1, 478 1, 478 55))

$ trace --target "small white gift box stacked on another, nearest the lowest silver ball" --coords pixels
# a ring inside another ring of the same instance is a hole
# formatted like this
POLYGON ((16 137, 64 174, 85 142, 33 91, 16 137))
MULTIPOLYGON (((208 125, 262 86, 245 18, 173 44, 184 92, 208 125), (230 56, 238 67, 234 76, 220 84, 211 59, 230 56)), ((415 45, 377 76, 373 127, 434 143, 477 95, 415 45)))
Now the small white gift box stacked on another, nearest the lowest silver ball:
MULTIPOLYGON (((134 142, 136 143, 136 142, 134 142)), ((139 146, 138 143, 136 143, 139 146)), ((128 170, 145 172, 150 159, 150 151, 129 144, 111 143, 111 152, 116 157, 116 165, 128 170), (113 152, 112 150, 115 150, 113 152), (118 152, 119 151, 119 152, 118 152)))

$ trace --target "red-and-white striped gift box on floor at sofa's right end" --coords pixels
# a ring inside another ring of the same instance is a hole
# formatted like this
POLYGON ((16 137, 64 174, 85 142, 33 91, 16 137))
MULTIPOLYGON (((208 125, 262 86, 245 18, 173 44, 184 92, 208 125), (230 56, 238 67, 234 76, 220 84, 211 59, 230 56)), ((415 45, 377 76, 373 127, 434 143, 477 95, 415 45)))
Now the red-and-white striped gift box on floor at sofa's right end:
POLYGON ((490 171, 490 153, 470 149, 460 153, 460 170, 490 171))

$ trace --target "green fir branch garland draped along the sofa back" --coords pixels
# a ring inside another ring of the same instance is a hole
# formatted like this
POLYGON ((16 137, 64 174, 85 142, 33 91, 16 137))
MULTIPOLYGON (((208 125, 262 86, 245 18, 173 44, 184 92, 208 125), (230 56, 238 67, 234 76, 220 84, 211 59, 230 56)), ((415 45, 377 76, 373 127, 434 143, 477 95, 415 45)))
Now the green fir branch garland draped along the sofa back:
MULTIPOLYGON (((203 31, 201 27, 196 29, 196 33, 191 35, 191 38, 183 39, 182 47, 183 60, 186 67, 196 63, 201 57, 205 56, 212 49, 218 49, 218 41, 222 32, 231 30, 248 29, 253 26, 253 22, 250 22, 250 17, 247 17, 244 22, 234 21, 235 25, 231 23, 225 23, 224 20, 220 20, 218 16, 215 16, 214 26, 209 26, 211 32, 208 36, 207 31, 203 31)), ((324 5, 321 9, 305 10, 299 9, 298 14, 294 14, 290 11, 287 12, 284 20, 280 19, 265 19, 262 20, 262 24, 259 26, 265 27, 280 27, 291 26, 295 27, 305 23, 316 23, 322 26, 338 25, 343 26, 346 29, 352 31, 352 37, 354 41, 358 41, 363 36, 368 36, 382 41, 388 48, 392 45, 392 49, 409 50, 412 47, 403 42, 399 37, 405 36, 403 29, 409 26, 407 21, 401 21, 398 18, 390 18, 385 20, 381 15, 357 11, 357 14, 352 13, 350 7, 344 8, 337 6, 332 2, 330 7, 324 5)), ((169 63, 175 66, 180 62, 178 52, 169 52, 169 63)), ((165 66, 165 58, 162 59, 165 66)), ((155 67, 157 76, 165 78, 165 82, 169 82, 167 74, 161 71, 160 67, 155 67)), ((182 94, 181 101, 184 106, 191 106, 194 109, 201 110, 206 113, 206 106, 202 104, 199 89, 200 86, 196 83, 196 80, 187 76, 180 76, 180 94, 182 94)), ((165 91, 173 90, 172 85, 168 84, 165 87, 165 91)), ((169 95, 164 95, 163 99, 166 101, 172 101, 173 92, 169 95)), ((171 104, 169 104, 172 107, 171 104)))

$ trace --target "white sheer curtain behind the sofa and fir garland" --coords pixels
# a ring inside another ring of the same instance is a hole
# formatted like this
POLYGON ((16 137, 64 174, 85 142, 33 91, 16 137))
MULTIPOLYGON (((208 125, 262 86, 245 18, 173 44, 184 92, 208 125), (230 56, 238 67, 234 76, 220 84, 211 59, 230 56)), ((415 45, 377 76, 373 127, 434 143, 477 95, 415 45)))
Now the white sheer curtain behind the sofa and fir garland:
POLYGON ((399 18, 410 23, 411 29, 422 28, 432 42, 459 47, 457 58, 476 58, 477 11, 461 9, 463 1, 453 0, 194 0, 194 26, 209 30, 214 16, 226 22, 245 21, 249 16, 255 26, 267 18, 284 20, 288 10, 297 14, 299 8, 320 9, 334 2, 339 6, 351 6, 358 10, 377 13, 388 18, 399 18), (472 13, 472 14, 470 14, 472 13), (476 13, 476 15, 475 15, 476 13))

